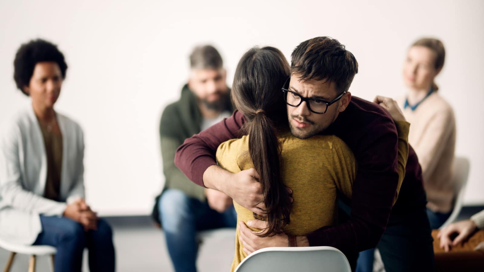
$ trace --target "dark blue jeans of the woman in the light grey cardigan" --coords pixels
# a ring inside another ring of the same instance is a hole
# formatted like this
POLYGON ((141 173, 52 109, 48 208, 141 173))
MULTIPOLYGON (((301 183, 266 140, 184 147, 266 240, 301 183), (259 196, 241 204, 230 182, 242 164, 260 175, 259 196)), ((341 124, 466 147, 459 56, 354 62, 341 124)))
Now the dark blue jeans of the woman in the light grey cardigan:
POLYGON ((114 272, 115 257, 112 230, 109 224, 99 219, 97 230, 84 231, 81 224, 67 217, 40 215, 42 232, 34 245, 50 245, 57 248, 54 261, 55 272, 79 272, 82 268, 82 253, 89 249, 91 272, 114 272))

